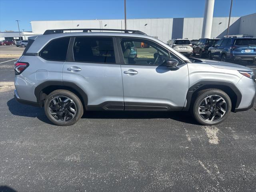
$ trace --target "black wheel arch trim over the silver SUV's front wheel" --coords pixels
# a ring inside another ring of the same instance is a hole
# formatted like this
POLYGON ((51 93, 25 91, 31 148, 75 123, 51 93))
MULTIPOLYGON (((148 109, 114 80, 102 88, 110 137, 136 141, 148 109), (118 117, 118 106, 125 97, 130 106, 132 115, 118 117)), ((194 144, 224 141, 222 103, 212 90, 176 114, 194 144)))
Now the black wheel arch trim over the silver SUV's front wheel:
POLYGON ((232 112, 234 112, 235 108, 238 108, 242 100, 242 94, 233 83, 225 81, 200 81, 190 86, 188 89, 186 96, 187 104, 184 106, 183 110, 189 110, 192 107, 192 104, 194 103, 193 101, 199 91, 209 88, 216 88, 228 94, 232 102, 232 112))

